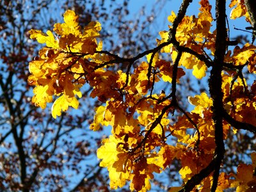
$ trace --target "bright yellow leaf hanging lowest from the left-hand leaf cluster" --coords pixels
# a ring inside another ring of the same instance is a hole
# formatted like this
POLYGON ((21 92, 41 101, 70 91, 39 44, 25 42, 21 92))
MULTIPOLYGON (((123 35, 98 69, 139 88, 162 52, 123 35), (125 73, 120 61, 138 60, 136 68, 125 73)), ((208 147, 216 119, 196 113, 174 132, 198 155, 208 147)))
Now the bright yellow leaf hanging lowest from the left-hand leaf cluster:
POLYGON ((76 97, 72 97, 71 100, 67 100, 65 98, 65 95, 61 95, 52 104, 52 117, 56 118, 56 116, 60 116, 61 111, 67 111, 69 106, 72 106, 74 109, 77 109, 79 106, 79 101, 76 99, 76 97))

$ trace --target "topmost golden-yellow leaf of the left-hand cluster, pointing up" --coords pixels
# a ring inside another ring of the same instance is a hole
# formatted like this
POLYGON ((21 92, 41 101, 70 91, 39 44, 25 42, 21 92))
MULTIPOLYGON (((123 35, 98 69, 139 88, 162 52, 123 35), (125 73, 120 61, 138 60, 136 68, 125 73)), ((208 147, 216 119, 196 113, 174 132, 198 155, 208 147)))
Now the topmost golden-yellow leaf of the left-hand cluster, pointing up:
POLYGON ((73 34, 75 36, 80 35, 80 26, 78 25, 78 16, 76 13, 72 10, 67 10, 64 13, 64 22, 63 24, 57 23, 54 24, 54 31, 58 35, 68 35, 68 34, 73 34))

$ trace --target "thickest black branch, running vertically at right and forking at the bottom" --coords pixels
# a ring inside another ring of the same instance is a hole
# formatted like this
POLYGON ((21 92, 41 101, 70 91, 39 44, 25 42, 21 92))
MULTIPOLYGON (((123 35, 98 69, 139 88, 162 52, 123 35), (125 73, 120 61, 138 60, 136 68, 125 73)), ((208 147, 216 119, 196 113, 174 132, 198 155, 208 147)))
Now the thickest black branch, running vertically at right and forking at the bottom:
POLYGON ((214 54, 214 64, 212 65, 211 76, 209 78, 209 92, 213 101, 212 104, 212 120, 215 128, 215 143, 216 150, 214 159, 204 168, 200 173, 194 175, 180 191, 191 191, 197 184, 200 184, 202 179, 207 177, 212 171, 213 183, 211 191, 215 191, 218 184, 218 177, 220 173, 220 165, 225 153, 225 146, 223 142, 223 93, 221 90, 221 71, 223 68, 223 61, 227 47, 227 31, 225 20, 225 1, 216 1, 216 51, 214 54))

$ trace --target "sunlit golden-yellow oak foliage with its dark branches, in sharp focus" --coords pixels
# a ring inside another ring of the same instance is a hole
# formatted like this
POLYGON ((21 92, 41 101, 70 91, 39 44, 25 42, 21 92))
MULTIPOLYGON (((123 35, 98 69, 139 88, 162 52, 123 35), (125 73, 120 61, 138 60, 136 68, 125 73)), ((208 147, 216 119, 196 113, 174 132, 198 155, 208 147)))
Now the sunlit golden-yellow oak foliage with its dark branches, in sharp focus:
MULTIPOLYGON (((244 70, 255 74, 256 47, 229 39, 225 1, 216 1, 216 18, 207 0, 200 1, 198 15, 186 15, 189 3, 184 0, 179 12, 171 13, 169 31, 159 32, 154 49, 133 58, 103 51, 100 23, 82 29, 71 10, 64 13, 64 23, 54 24, 53 32, 29 31, 31 38, 46 45, 29 63, 28 83, 35 86, 36 106, 44 109, 54 101, 54 118, 69 107, 77 109, 84 84, 93 88, 90 96, 102 102, 90 128, 111 127, 111 135, 97 150, 111 189, 130 181, 131 191, 150 190, 155 173, 174 160, 180 161, 184 184, 169 191, 250 191, 256 186, 255 152, 252 164, 239 164, 236 173, 221 169, 228 134, 256 131, 256 81, 243 76, 244 70), (126 70, 112 70, 118 63, 128 63, 126 70), (195 79, 209 79, 209 92, 189 96, 194 108, 187 111, 177 86, 189 70, 195 79), (159 93, 157 86, 163 84, 171 85, 169 93, 159 93)), ((233 0, 229 6, 230 19, 245 16, 250 24, 244 1, 233 0)))

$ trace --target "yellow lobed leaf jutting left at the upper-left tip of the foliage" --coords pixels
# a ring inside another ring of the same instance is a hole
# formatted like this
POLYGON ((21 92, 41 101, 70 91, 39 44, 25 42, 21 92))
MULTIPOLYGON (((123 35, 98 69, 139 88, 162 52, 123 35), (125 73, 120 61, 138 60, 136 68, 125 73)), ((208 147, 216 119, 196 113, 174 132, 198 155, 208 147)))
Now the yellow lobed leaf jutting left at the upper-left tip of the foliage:
POLYGON ((46 44, 47 47, 51 47, 54 49, 57 49, 59 47, 58 41, 55 40, 51 31, 46 32, 46 34, 48 35, 47 36, 44 33, 42 33, 42 31, 40 30, 31 29, 29 31, 29 34, 30 34, 30 38, 36 38, 36 40, 40 44, 46 44))

